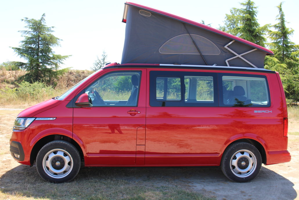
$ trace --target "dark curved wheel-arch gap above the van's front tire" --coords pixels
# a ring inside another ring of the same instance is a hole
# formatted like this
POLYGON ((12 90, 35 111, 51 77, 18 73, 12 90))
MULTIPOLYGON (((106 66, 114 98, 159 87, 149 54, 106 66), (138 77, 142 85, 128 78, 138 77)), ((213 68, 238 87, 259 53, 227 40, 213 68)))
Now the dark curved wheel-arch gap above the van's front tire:
POLYGON ((66 142, 69 142, 71 144, 73 144, 76 149, 79 152, 81 161, 84 161, 84 154, 82 151, 82 148, 80 147, 80 145, 72 138, 65 136, 65 135, 61 135, 61 134, 52 134, 52 135, 48 135, 45 136, 41 139, 39 139, 33 146, 31 153, 30 153, 30 166, 33 166, 34 161, 36 160, 36 156, 39 152, 39 150, 47 143, 52 142, 54 140, 64 140, 66 142))

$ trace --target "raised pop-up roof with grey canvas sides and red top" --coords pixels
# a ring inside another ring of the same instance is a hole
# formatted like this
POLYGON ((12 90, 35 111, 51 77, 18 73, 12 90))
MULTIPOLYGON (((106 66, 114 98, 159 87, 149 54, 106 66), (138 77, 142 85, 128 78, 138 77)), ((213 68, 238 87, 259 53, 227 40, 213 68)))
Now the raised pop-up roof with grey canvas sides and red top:
POLYGON ((126 2, 121 64, 188 64, 264 67, 273 52, 215 28, 126 2))

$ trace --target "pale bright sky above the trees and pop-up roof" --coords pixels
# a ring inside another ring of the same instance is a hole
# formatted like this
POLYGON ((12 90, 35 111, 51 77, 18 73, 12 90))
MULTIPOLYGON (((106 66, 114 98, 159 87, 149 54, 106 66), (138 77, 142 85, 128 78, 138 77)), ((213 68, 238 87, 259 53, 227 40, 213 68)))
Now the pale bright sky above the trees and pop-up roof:
MULTIPOLYGON (((260 25, 276 24, 277 5, 281 0, 253 0, 257 6, 260 25)), ((225 14, 232 7, 242 8, 241 0, 132 0, 131 2, 152 7, 196 22, 205 21, 218 28, 225 14)), ((90 70, 102 52, 109 62, 121 61, 126 24, 122 23, 123 0, 0 0, 0 64, 6 61, 24 61, 11 47, 18 47, 23 40, 18 31, 25 30, 24 17, 40 19, 45 13, 47 26, 54 26, 54 36, 62 39, 54 51, 71 55, 61 68, 90 70)), ((299 1, 285 0, 283 11, 287 27, 294 29, 291 41, 299 44, 299 1)))

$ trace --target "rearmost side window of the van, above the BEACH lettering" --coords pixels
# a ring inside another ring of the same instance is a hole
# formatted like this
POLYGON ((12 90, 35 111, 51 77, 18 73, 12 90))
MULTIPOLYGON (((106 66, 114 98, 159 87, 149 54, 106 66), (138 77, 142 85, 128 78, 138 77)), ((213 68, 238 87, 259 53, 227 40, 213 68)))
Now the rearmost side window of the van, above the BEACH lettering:
POLYGON ((266 76, 225 74, 220 79, 222 80, 220 106, 270 106, 269 86, 266 76))

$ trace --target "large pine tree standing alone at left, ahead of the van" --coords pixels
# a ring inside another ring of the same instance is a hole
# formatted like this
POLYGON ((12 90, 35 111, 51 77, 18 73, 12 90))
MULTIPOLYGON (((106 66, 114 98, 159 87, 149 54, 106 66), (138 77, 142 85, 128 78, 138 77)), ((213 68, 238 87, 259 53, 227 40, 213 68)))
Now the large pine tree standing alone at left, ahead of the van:
POLYGON ((52 28, 45 24, 45 14, 39 20, 22 19, 28 30, 19 31, 22 33, 22 40, 19 47, 11 47, 17 55, 27 62, 15 62, 15 64, 28 71, 21 79, 27 82, 42 81, 50 83, 51 80, 65 70, 58 70, 59 64, 63 64, 69 55, 57 55, 52 47, 60 46, 60 39, 55 37, 52 28))

